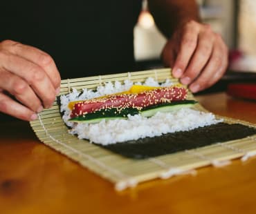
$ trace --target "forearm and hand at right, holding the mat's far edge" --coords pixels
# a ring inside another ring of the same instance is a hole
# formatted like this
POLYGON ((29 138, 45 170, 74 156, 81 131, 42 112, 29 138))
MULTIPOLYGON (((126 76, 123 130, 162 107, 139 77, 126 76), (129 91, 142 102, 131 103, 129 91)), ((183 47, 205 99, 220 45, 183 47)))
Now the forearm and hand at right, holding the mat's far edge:
POLYGON ((212 86, 228 66, 228 48, 210 26, 199 23, 193 0, 148 0, 156 25, 167 37, 162 59, 193 93, 212 86))

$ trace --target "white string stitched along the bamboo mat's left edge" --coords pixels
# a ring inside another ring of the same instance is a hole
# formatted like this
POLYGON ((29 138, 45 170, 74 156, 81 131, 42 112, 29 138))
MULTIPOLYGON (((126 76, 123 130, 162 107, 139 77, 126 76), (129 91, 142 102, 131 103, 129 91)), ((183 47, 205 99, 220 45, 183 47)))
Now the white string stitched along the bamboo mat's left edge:
MULTIPOLYGON (((39 122, 42 126, 42 128, 44 129, 44 132, 46 133, 46 135, 53 140, 53 142, 60 144, 62 146, 64 146, 65 148, 68 148, 69 150, 73 151, 73 153, 77 153, 77 155, 80 155, 82 157, 86 157, 86 159, 88 159, 90 162, 93 162, 93 164, 96 164, 98 166, 100 166, 101 168, 104 168, 106 171, 109 171, 111 173, 113 173, 114 175, 117 175, 118 177, 124 179, 122 186, 125 186, 125 188, 128 187, 133 187, 136 186, 136 184, 138 184, 138 182, 136 181, 136 179, 129 177, 128 175, 125 175, 124 173, 121 173, 120 171, 111 168, 109 166, 107 166, 106 164, 100 162, 98 159, 95 159, 94 157, 91 157, 91 155, 87 155, 86 153, 82 153, 80 150, 76 150, 75 148, 68 146, 67 144, 64 144, 63 142, 60 142, 60 140, 55 139, 55 137, 53 137, 50 133, 48 133, 48 130, 46 129, 46 127, 44 126, 44 122, 42 121, 40 115, 38 114, 38 119, 39 122)), ((122 187, 121 186, 121 187, 122 187)), ((120 188, 120 191, 123 190, 124 188, 120 188)), ((118 188, 117 188, 118 190, 118 188)))

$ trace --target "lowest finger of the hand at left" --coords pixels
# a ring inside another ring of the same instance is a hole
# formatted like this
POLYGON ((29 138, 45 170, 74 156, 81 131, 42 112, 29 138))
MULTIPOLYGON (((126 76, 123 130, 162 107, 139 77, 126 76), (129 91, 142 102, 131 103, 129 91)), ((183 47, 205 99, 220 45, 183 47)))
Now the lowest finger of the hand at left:
POLYGON ((0 93, 0 112, 26 121, 37 119, 37 115, 32 110, 22 106, 3 93, 0 93))

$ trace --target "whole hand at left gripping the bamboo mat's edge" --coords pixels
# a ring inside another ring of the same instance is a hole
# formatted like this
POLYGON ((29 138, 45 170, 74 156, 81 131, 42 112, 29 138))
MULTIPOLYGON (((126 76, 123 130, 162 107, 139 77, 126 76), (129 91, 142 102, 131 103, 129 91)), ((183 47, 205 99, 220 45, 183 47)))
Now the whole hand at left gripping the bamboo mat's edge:
POLYGON ((60 73, 50 55, 16 41, 0 42, 0 112, 37 119, 59 92, 60 73))

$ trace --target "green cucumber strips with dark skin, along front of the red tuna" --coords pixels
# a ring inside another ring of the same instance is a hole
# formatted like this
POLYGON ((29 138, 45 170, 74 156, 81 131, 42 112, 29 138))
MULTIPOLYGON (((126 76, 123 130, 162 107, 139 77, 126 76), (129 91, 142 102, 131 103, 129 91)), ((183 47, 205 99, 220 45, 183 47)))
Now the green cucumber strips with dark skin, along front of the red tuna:
POLYGON ((95 111, 95 113, 89 113, 83 116, 73 117, 69 119, 69 121, 95 124, 102 121, 102 119, 127 119, 128 115, 138 115, 139 113, 143 117, 152 117, 158 112, 168 113, 172 110, 177 110, 180 108, 189 108, 196 103, 197 102, 194 100, 183 100, 173 101, 171 103, 165 104, 152 105, 144 108, 143 110, 138 110, 137 108, 123 108, 122 110, 118 110, 118 108, 102 109, 95 111))

